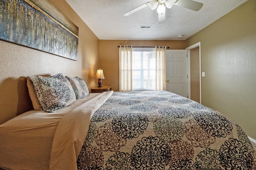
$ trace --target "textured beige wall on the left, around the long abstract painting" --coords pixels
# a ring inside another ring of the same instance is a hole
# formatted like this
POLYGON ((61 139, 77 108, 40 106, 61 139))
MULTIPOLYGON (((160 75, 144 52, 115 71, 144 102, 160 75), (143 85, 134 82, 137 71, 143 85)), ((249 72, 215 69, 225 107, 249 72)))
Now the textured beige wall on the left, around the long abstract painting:
POLYGON ((93 78, 99 66, 99 40, 70 8, 65 0, 50 0, 79 27, 78 61, 44 53, 0 40, 0 124, 32 109, 26 76, 80 76, 88 87, 95 86, 93 78))

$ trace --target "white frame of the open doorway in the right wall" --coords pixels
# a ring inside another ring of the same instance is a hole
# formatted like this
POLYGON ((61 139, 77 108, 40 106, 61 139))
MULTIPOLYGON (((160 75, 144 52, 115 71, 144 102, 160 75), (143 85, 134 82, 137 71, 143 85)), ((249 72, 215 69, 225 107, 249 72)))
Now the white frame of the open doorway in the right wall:
POLYGON ((188 55, 188 98, 191 99, 190 90, 190 50, 199 47, 199 74, 200 74, 200 104, 202 104, 202 77, 201 77, 201 42, 191 45, 186 48, 188 55))

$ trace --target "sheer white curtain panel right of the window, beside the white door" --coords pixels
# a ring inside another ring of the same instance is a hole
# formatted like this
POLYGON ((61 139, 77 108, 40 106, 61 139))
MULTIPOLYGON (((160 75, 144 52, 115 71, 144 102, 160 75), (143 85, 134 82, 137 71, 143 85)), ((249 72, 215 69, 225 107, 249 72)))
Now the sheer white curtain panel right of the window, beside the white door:
POLYGON ((166 90, 166 47, 156 47, 156 89, 166 90))

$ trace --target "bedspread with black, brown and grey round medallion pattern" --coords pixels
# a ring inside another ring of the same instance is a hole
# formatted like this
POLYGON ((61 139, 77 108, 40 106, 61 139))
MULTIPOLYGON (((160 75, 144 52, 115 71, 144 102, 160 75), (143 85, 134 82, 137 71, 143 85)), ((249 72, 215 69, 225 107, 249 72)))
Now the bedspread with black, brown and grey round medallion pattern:
POLYGON ((166 91, 114 92, 94 113, 78 169, 255 170, 242 129, 218 111, 166 91))

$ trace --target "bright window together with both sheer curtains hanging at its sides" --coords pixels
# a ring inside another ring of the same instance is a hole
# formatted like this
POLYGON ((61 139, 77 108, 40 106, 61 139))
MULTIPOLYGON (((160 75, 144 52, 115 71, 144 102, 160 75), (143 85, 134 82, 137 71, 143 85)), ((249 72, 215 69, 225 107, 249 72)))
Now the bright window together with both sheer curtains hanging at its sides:
POLYGON ((166 90, 166 47, 119 48, 119 91, 166 90))

